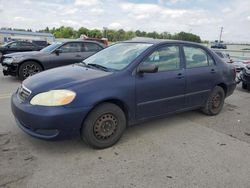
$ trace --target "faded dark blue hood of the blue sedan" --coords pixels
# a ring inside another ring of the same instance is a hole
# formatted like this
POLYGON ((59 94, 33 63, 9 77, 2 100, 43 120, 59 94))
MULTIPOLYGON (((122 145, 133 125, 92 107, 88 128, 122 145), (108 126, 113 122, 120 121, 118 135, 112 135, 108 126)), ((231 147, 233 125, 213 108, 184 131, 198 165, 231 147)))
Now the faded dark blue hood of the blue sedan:
POLYGON ((40 93, 52 89, 66 89, 74 84, 87 82, 108 76, 112 72, 91 69, 79 64, 50 69, 23 81, 23 85, 32 93, 40 93))

